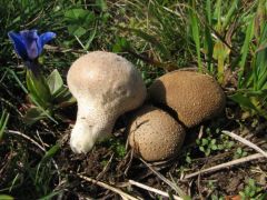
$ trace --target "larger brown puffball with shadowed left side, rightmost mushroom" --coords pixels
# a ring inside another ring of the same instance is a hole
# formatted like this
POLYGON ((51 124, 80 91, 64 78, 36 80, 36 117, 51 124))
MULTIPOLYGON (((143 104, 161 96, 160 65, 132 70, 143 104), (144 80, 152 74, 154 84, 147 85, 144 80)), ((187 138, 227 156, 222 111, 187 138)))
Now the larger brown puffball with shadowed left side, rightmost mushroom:
POLYGON ((195 71, 172 71, 158 78, 148 89, 154 103, 168 106, 180 122, 191 128, 218 116, 226 97, 210 76, 195 71))

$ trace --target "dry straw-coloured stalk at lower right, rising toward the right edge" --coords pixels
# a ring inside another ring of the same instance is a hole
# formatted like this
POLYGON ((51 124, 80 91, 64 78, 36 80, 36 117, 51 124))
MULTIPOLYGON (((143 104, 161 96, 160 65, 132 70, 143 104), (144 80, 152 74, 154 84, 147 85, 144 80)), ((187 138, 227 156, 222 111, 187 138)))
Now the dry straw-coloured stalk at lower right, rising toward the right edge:
POLYGON ((244 163, 244 162, 249 162, 251 160, 256 160, 256 159, 259 159, 259 158, 264 158, 264 156, 261 153, 250 154, 248 157, 236 159, 236 160, 233 160, 233 161, 229 161, 229 162, 225 162, 225 163, 221 163, 221 164, 208 168, 208 169, 204 169, 204 170, 187 174, 187 176, 185 176, 185 179, 196 177, 200 173, 208 173, 208 172, 212 172, 212 171, 218 171, 218 170, 224 169, 224 168, 237 166, 237 164, 240 164, 240 163, 244 163))

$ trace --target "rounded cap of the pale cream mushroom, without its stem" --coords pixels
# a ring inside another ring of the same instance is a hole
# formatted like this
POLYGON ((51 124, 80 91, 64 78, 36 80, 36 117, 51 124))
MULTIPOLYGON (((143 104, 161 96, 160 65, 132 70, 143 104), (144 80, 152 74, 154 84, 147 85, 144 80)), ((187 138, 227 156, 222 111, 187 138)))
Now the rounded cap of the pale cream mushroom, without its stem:
POLYGON ((147 92, 131 62, 105 51, 93 51, 76 60, 68 71, 67 82, 78 101, 90 100, 120 114, 139 107, 147 92))

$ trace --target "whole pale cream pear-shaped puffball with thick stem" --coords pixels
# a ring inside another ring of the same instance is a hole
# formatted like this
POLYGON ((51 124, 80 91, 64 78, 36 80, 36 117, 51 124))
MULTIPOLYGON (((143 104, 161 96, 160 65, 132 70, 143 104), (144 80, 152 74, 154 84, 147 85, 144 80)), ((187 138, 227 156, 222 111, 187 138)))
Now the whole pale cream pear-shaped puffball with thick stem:
POLYGON ((147 93, 132 63, 103 51, 76 60, 67 82, 78 103, 70 137, 70 147, 76 153, 90 151, 97 140, 109 136, 117 118, 141 106, 147 93))

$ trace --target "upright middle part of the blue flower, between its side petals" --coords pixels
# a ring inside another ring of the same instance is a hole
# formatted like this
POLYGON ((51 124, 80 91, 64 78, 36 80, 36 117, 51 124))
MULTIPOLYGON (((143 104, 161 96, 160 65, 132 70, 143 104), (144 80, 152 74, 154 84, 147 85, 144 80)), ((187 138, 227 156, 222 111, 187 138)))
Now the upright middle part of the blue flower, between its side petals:
POLYGON ((40 50, 37 43, 39 39, 39 36, 37 34, 37 30, 20 31, 20 36, 24 42, 28 58, 30 60, 34 60, 36 58, 38 58, 40 50))

